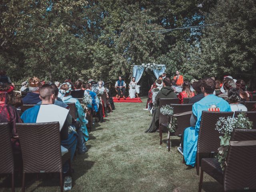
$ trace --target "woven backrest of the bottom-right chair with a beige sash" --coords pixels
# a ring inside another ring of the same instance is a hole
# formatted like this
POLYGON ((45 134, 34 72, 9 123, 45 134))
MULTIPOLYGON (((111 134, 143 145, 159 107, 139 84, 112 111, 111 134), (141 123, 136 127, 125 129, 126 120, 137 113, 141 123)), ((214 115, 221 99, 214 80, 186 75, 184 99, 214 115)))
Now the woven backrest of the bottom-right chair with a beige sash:
MULTIPOLYGON (((235 129, 230 141, 256 140, 256 130, 235 129)), ((232 146, 224 171, 224 191, 256 191, 256 145, 232 146)))

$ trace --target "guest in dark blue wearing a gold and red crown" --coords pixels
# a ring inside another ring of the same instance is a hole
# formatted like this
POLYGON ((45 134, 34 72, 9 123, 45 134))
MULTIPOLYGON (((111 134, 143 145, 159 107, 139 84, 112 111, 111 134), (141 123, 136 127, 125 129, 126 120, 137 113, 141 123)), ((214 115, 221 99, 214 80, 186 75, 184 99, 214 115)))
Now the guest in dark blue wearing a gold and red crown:
POLYGON ((41 86, 40 80, 37 77, 29 79, 29 91, 24 98, 22 98, 23 104, 37 104, 41 101, 39 97, 39 88, 41 86))

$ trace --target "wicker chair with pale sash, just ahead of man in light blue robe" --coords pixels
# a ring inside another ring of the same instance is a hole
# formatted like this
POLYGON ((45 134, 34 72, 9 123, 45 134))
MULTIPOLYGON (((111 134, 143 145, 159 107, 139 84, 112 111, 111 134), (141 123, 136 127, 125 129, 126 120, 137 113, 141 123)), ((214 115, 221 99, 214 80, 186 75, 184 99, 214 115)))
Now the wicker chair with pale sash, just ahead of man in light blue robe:
POLYGON ((168 133, 168 151, 170 151, 170 136, 182 136, 184 129, 190 126, 192 105, 193 104, 170 104, 170 106, 173 107, 174 117, 177 119, 177 126, 174 133, 168 133))

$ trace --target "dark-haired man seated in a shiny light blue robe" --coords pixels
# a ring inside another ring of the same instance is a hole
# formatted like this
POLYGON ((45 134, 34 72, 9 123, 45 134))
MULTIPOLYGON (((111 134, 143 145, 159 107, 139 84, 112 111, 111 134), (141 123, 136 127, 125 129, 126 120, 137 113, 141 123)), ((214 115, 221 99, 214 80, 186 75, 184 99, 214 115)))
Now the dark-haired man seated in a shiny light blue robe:
MULTIPOLYGON (((198 132, 202 111, 231 111, 228 102, 213 95, 214 90, 215 81, 212 78, 204 78, 202 80, 202 93, 204 94, 204 98, 193 104, 190 118, 191 127, 186 128, 183 134, 183 155, 187 165, 194 166, 196 162, 198 132)), ((178 148, 178 150, 182 152, 182 148, 178 148)))

